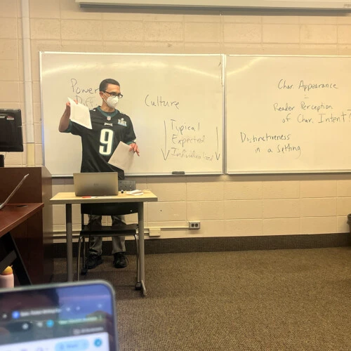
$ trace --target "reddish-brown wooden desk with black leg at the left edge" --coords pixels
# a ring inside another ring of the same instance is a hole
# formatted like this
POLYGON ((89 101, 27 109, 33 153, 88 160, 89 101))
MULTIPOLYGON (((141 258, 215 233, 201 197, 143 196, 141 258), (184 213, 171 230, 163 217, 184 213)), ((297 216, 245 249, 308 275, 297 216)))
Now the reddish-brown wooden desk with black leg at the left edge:
POLYGON ((41 211, 43 207, 43 203, 8 204, 0 210, 0 244, 5 254, 5 257, 0 261, 0 272, 8 265, 13 265, 14 272, 21 285, 32 283, 17 245, 11 237, 11 230, 25 223, 35 213, 41 211))

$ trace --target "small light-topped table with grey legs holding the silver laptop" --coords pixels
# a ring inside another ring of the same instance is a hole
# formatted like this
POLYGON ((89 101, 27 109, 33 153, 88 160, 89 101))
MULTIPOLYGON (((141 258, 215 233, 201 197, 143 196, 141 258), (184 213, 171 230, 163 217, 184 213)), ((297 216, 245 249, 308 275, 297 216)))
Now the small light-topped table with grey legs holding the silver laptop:
MULTIPOLYGON (((144 249, 144 202, 157 201, 157 196, 150 191, 143 195, 128 195, 126 193, 111 197, 76 197, 74 192, 59 192, 51 200, 51 204, 66 205, 66 234, 67 234, 67 281, 73 280, 73 253, 72 253, 72 204, 91 203, 115 203, 115 202, 137 202, 138 203, 138 233, 140 244, 140 280, 143 294, 145 289, 145 249, 144 249)), ((79 273, 78 273, 79 274, 79 273)))

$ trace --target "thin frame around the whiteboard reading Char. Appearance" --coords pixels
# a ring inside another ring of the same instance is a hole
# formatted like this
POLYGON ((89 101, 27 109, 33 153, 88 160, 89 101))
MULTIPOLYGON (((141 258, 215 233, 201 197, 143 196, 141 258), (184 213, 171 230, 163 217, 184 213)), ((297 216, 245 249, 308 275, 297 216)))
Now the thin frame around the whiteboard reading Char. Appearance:
MULTIPOLYGON (((223 54, 225 55, 225 62, 227 62, 228 57, 246 57, 246 58, 350 58, 351 55, 242 55, 242 54, 223 54)), ((227 67, 225 67, 227 68, 227 67)), ((224 82, 225 82, 225 91, 224 91, 224 100, 225 100, 225 121, 223 130, 225 133, 225 140, 227 135, 227 71, 224 73, 224 82)), ((225 142, 225 168, 224 174, 227 175, 274 175, 274 174, 286 174, 286 175, 294 175, 294 174, 336 174, 336 173, 351 173, 351 169, 336 169, 336 170, 296 170, 296 171, 228 171, 227 169, 227 143, 225 142)))

